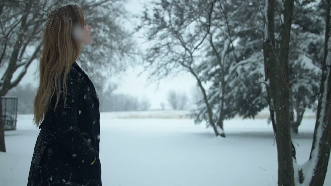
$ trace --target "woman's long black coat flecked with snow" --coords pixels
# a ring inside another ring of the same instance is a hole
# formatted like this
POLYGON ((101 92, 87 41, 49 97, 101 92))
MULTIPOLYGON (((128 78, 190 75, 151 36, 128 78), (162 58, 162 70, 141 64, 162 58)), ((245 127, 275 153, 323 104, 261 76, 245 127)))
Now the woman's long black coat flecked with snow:
POLYGON ((67 78, 66 97, 65 103, 60 97, 55 110, 53 97, 39 126, 27 186, 102 186, 99 99, 76 63, 67 78))

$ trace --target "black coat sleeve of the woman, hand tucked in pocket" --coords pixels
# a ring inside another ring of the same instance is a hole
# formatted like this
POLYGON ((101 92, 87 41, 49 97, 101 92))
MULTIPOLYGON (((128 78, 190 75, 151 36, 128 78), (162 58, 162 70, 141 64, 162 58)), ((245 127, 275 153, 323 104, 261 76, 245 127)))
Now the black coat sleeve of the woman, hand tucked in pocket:
POLYGON ((90 165, 96 159, 96 152, 83 137, 77 126, 79 75, 71 69, 67 78, 67 99, 64 103, 61 94, 59 103, 55 109, 55 136, 65 146, 67 152, 82 164, 90 165))

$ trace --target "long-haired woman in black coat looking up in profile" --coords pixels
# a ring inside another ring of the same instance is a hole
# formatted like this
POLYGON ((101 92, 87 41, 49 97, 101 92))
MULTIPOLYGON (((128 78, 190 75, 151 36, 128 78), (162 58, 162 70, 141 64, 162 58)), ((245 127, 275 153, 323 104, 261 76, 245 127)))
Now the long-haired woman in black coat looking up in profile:
POLYGON ((34 100, 36 141, 28 186, 101 186, 99 101, 93 83, 76 64, 91 27, 76 5, 48 16, 34 100))

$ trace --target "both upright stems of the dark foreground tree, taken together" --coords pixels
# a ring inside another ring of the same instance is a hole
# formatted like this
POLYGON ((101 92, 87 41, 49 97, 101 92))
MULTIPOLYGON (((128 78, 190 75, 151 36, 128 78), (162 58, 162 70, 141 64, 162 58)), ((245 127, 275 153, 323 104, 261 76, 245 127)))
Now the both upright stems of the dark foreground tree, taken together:
POLYGON ((282 1, 280 14, 280 39, 276 43, 274 34, 275 0, 266 0, 266 30, 263 54, 265 80, 269 83, 268 102, 271 120, 276 135, 278 152, 278 186, 294 186, 293 158, 295 150, 291 139, 290 91, 289 91, 289 42, 294 0, 282 1))

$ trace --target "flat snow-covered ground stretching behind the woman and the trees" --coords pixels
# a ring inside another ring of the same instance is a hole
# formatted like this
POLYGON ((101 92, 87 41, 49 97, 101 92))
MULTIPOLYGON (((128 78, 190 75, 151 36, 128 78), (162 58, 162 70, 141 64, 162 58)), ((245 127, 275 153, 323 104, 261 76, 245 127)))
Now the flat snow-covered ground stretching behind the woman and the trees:
MULTIPOLYGON (((266 119, 225 121, 227 138, 193 120, 116 118, 101 113, 100 159, 104 186, 277 185, 277 150, 266 119)), ((31 115, 6 131, 0 185, 24 186, 38 129, 31 115)), ((315 119, 306 117, 293 137, 298 163, 309 157, 315 119)), ((330 170, 330 165, 329 168, 330 170)), ((331 185, 328 172, 324 185, 331 185)))

